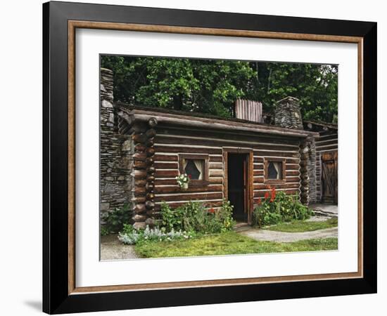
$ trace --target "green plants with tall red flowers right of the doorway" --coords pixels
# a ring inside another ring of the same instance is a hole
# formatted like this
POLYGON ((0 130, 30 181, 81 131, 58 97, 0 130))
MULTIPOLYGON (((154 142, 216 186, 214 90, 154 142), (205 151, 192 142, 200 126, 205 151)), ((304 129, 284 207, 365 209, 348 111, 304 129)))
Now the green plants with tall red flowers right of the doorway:
POLYGON ((286 195, 284 191, 271 190, 271 196, 267 194, 253 211, 253 225, 262 227, 275 225, 291 220, 305 220, 310 218, 312 210, 303 205, 298 195, 286 195))

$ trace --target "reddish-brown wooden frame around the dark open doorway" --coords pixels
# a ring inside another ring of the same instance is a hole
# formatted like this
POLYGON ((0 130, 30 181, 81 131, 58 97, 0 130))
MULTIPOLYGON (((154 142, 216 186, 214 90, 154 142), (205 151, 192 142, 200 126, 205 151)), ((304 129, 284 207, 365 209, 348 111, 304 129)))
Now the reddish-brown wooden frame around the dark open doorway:
POLYGON ((254 182, 254 154, 253 149, 239 148, 239 147, 223 147, 223 197, 224 199, 229 198, 229 181, 228 181, 228 158, 227 155, 232 154, 247 154, 247 170, 245 176, 246 179, 246 194, 245 194, 245 211, 247 212, 247 223, 251 224, 251 214, 253 213, 253 182, 254 182))

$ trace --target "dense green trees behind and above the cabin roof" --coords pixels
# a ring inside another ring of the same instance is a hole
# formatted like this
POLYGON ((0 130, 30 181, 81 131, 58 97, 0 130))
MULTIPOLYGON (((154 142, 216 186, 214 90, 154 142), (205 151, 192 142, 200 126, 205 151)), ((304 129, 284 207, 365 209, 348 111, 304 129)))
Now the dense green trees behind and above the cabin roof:
POLYGON ((113 70, 115 99, 132 105, 231 117, 237 98, 271 112, 293 96, 304 119, 337 122, 337 65, 103 55, 101 67, 113 70))

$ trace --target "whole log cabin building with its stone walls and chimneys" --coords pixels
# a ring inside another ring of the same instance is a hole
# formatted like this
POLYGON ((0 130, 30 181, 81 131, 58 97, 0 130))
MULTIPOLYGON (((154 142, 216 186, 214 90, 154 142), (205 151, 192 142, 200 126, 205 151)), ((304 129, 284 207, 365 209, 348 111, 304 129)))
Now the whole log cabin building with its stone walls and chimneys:
POLYGON ((335 202, 334 181, 317 178, 325 164, 331 167, 327 150, 336 150, 337 169, 337 127, 303 121, 296 98, 279 100, 275 109, 269 117, 261 103, 237 100, 235 117, 224 119, 129 106, 113 101, 113 74, 101 69, 101 213, 132 204, 134 226, 144 228, 154 225, 164 202, 217 208, 227 199, 234 219, 250 223, 269 185, 304 204, 335 202), (186 190, 175 178, 182 173, 191 176, 186 190))

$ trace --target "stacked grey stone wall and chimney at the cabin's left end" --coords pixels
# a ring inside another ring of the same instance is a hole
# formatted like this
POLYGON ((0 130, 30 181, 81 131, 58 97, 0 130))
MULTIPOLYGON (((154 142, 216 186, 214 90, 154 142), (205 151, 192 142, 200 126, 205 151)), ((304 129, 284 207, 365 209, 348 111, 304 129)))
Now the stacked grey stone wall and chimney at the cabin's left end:
POLYGON ((101 68, 100 215, 132 201, 132 139, 116 132, 113 72, 101 68))

